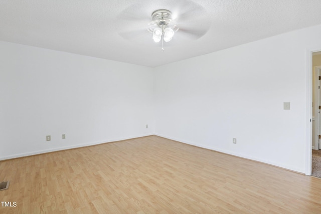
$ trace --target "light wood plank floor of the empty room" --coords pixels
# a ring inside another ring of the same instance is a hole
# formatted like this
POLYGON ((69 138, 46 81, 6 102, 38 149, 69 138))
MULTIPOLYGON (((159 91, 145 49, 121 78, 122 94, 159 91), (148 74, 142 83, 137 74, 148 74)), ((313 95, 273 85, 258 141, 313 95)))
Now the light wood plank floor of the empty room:
POLYGON ((0 162, 0 213, 321 213, 321 179, 148 136, 0 162))

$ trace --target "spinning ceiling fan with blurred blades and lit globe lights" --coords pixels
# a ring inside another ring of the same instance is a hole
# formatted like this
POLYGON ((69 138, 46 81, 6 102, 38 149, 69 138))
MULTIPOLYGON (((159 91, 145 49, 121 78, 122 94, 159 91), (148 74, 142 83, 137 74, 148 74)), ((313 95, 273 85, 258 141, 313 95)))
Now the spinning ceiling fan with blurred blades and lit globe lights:
POLYGON ((206 10, 197 3, 188 0, 164 3, 163 7, 168 5, 167 9, 152 10, 149 15, 146 11, 156 6, 149 7, 148 3, 122 11, 117 17, 119 35, 144 44, 161 42, 164 50, 164 42, 173 40, 172 45, 188 43, 201 38, 209 30, 206 10))

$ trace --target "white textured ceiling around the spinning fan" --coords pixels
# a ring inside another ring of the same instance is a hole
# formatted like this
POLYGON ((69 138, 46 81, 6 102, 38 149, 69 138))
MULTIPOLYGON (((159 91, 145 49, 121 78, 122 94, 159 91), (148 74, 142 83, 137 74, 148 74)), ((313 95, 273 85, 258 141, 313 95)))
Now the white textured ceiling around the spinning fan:
POLYGON ((319 25, 320 9, 320 0, 0 0, 0 40, 156 67, 319 25), (209 30, 179 30, 162 51, 145 30, 157 9, 182 29, 209 30))

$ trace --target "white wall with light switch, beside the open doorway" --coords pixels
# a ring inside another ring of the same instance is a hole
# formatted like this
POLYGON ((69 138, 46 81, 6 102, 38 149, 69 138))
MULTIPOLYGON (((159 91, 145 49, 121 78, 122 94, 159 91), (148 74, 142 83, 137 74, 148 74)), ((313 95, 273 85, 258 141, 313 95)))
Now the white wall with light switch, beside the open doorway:
POLYGON ((320 38, 316 26, 157 67, 155 133, 304 173, 306 59, 320 38))

